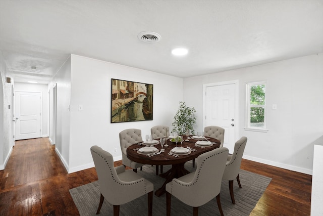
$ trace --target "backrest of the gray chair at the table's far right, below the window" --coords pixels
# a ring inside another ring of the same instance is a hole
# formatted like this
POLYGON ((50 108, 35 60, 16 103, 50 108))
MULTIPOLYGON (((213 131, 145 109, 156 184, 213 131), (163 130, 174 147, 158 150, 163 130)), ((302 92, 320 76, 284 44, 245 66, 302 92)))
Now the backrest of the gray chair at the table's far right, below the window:
POLYGON ((238 140, 234 145, 234 152, 232 156, 230 155, 230 160, 227 161, 226 170, 223 175, 223 179, 225 180, 234 180, 237 178, 240 166, 241 166, 241 160, 243 156, 244 149, 247 144, 247 138, 241 137, 240 140, 238 140))

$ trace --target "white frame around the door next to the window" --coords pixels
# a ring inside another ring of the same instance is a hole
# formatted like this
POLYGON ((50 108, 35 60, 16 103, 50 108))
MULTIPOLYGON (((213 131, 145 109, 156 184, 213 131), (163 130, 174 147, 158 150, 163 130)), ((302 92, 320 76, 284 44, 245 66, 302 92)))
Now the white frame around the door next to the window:
MULTIPOLYGON (((219 85, 229 85, 229 84, 235 84, 235 107, 234 107, 234 115, 235 115, 235 142, 238 140, 238 136, 239 136, 239 127, 237 125, 239 125, 239 80, 230 80, 230 81, 223 81, 223 82, 213 82, 213 83, 206 83, 203 84, 203 128, 206 126, 205 124, 205 118, 206 118, 206 88, 207 87, 216 87, 219 85)), ((231 145, 231 144, 230 144, 231 145)), ((234 146, 234 143, 232 143, 232 145, 234 146)))

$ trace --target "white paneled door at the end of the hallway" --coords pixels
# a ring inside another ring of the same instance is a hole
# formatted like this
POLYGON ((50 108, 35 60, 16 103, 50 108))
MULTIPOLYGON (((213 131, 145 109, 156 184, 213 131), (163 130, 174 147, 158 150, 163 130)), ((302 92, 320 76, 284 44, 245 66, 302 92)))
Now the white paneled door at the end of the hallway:
POLYGON ((15 92, 15 140, 41 137, 41 93, 15 92))

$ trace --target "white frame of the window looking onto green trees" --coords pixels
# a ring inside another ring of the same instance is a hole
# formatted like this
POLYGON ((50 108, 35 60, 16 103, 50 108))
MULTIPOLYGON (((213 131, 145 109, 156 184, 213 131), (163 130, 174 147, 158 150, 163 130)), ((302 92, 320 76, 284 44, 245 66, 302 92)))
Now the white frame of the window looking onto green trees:
POLYGON ((247 82, 246 83, 246 127, 245 131, 255 132, 267 132, 267 81, 247 82), (264 85, 265 86, 265 101, 264 105, 251 105, 250 104, 250 89, 253 85, 264 85), (250 110, 252 107, 262 107, 264 109, 263 127, 250 126, 250 110))

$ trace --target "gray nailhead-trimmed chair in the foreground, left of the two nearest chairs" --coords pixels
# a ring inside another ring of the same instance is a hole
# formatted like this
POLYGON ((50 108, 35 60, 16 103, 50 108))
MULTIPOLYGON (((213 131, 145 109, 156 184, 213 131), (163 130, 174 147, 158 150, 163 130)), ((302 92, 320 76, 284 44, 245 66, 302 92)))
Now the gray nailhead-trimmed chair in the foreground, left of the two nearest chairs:
POLYGON ((100 212, 104 198, 113 204, 114 215, 119 215, 120 205, 148 194, 148 215, 152 215, 153 184, 123 165, 114 167, 113 156, 98 146, 91 147, 100 188, 100 212))

